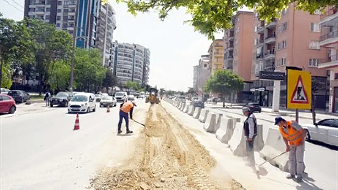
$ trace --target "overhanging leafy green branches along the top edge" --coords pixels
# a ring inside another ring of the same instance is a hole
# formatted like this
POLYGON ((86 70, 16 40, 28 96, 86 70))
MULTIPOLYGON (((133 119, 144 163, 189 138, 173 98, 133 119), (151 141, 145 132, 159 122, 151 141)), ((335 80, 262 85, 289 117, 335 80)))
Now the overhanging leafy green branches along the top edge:
POLYGON ((289 3, 297 2, 297 8, 314 13, 316 9, 324 9, 328 5, 337 5, 337 1, 331 0, 299 0, 299 1, 280 1, 280 0, 116 0, 126 2, 128 12, 136 15, 137 12, 148 12, 155 9, 159 12, 159 18, 165 19, 171 9, 185 8, 186 12, 192 16, 185 23, 190 23, 200 33, 214 39, 214 32, 232 27, 231 20, 235 13, 244 6, 252 9, 255 6, 260 18, 271 21, 272 18, 279 18, 279 12, 286 8, 289 3))

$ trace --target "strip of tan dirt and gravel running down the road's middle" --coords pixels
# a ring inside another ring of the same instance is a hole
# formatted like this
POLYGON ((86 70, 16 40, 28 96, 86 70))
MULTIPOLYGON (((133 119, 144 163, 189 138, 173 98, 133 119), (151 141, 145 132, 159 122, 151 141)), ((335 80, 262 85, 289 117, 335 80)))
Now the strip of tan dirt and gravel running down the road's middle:
POLYGON ((209 152, 160 104, 149 107, 145 126, 134 155, 122 166, 99 171, 88 188, 244 190, 230 177, 215 174, 209 152))

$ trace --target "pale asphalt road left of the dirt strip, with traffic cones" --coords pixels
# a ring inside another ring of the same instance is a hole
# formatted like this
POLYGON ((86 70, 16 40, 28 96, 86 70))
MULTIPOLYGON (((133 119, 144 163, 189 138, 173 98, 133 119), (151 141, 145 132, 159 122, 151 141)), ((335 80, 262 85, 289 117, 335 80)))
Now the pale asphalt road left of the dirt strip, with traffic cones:
POLYGON ((14 115, 0 115, 0 189, 85 189, 106 154, 101 144, 116 138, 119 104, 106 109, 97 104, 95 112, 80 114, 78 131, 76 115, 62 107, 19 105, 14 115))

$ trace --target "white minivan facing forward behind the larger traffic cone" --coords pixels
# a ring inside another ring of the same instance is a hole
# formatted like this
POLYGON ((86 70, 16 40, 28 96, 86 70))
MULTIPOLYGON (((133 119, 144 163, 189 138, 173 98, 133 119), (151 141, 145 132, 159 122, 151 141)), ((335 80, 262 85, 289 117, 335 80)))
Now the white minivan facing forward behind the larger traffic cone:
POLYGON ((76 93, 68 103, 68 113, 89 113, 96 110, 95 95, 76 93))

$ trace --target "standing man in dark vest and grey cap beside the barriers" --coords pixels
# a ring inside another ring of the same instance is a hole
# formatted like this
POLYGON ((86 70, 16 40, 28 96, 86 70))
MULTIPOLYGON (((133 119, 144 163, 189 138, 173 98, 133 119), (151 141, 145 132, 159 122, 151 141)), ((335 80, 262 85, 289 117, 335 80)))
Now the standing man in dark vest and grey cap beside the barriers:
POLYGON ((243 108, 243 114, 246 116, 244 120, 244 133, 246 139, 246 153, 250 162, 250 166, 256 169, 254 142, 257 136, 257 119, 248 107, 243 108))

